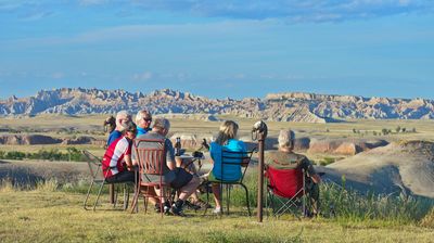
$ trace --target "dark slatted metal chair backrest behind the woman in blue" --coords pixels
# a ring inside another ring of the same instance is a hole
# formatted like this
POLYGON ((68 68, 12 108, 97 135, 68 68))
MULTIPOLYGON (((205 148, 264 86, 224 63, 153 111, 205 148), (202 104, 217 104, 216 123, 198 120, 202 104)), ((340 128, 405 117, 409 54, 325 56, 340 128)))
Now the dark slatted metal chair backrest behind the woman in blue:
MULTIPOLYGON (((221 151, 221 175, 224 180, 231 181, 230 179, 226 179, 226 171, 230 171, 231 169, 239 170, 241 169, 241 177, 237 178, 237 181, 243 181, 245 171, 247 170, 248 164, 252 159, 252 155, 255 150, 252 151, 221 151), (226 170, 226 171, 225 171, 226 170)), ((218 178, 221 179, 221 178, 218 178)))

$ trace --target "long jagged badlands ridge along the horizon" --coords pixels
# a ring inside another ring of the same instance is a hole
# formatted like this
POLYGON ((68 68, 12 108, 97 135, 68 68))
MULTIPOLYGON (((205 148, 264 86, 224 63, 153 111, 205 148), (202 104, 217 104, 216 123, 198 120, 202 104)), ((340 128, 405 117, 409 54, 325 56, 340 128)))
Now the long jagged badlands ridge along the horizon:
POLYGON ((170 89, 149 94, 124 90, 62 88, 0 100, 0 115, 114 114, 148 108, 153 114, 231 114, 267 120, 328 123, 349 118, 432 119, 434 101, 315 93, 270 93, 265 99, 208 99, 170 89))

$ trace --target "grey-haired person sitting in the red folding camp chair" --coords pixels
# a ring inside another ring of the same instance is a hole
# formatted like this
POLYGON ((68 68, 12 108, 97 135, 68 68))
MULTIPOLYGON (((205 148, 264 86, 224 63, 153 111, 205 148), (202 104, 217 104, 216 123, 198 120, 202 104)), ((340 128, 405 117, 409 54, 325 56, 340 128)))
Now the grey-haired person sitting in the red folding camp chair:
POLYGON ((293 152, 294 140, 294 131, 290 129, 281 130, 279 133, 279 150, 268 153, 266 163, 278 169, 303 168, 306 171, 306 192, 310 196, 311 213, 312 215, 317 215, 319 206, 318 183, 321 181, 321 178, 315 171, 312 164, 306 156, 293 152))

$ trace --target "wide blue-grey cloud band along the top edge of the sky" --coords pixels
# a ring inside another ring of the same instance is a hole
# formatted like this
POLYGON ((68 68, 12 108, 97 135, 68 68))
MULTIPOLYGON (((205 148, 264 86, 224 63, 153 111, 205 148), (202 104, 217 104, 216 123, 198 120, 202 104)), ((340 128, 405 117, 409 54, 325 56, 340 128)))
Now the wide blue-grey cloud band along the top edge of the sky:
POLYGON ((430 0, 133 0, 131 4, 143 10, 188 12, 199 16, 288 18, 296 22, 345 21, 434 11, 434 1, 430 0))

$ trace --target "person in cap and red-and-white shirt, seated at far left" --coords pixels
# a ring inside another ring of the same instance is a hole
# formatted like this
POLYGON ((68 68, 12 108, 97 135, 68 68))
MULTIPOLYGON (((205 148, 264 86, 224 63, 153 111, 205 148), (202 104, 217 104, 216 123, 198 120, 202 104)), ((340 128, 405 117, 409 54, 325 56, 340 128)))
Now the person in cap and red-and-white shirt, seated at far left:
POLYGON ((108 145, 102 159, 103 175, 110 183, 136 181, 136 172, 131 161, 132 140, 137 135, 136 124, 128 120, 122 126, 122 137, 108 145))

